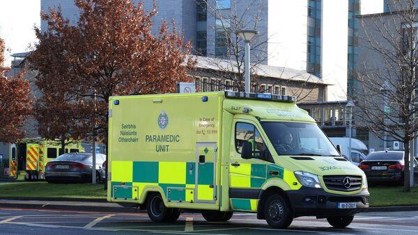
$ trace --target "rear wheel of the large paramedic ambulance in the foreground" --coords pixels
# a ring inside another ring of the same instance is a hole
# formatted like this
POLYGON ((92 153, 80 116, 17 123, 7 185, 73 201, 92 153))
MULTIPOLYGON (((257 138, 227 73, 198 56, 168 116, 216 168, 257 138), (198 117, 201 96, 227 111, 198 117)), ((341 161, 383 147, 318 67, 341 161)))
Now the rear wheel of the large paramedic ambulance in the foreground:
POLYGON ((146 205, 148 216, 154 222, 175 222, 180 216, 180 210, 167 208, 159 193, 154 193, 148 198, 146 205))

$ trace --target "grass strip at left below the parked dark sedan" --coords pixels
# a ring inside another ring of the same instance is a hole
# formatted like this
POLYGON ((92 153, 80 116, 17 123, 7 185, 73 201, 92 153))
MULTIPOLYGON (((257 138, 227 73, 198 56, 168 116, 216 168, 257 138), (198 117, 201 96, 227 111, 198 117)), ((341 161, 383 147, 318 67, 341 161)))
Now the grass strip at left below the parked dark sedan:
POLYGON ((0 184, 0 197, 105 199, 103 184, 48 184, 17 182, 0 184))

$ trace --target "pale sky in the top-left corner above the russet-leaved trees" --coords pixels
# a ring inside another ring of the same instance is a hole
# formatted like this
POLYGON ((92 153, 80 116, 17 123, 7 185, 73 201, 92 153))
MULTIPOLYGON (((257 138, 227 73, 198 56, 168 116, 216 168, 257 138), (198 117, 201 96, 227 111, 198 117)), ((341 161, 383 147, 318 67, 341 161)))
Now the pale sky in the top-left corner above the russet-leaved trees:
POLYGON ((5 66, 10 54, 29 51, 36 43, 33 27, 40 27, 40 0, 0 0, 0 38, 6 45, 5 66))

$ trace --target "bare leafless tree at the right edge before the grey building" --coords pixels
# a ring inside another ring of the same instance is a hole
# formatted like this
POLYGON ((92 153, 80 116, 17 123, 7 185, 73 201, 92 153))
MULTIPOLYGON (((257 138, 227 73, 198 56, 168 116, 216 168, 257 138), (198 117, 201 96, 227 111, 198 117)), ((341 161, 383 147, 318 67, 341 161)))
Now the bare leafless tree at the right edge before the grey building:
MULTIPOLYGON (((410 144, 417 137, 418 86, 416 0, 393 1, 389 13, 363 16, 359 41, 359 81, 355 113, 364 126, 405 149, 404 191, 410 192, 410 144)), ((354 97, 356 98, 356 97, 354 97)))

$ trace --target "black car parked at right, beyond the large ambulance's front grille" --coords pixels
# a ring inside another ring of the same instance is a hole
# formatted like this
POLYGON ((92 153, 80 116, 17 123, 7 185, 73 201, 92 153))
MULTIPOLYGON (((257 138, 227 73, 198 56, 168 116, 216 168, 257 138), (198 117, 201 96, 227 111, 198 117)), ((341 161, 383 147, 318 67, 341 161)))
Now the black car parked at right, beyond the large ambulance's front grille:
POLYGON ((405 154, 403 151, 371 152, 362 161, 359 168, 364 171, 369 183, 399 182, 403 183, 405 154))

